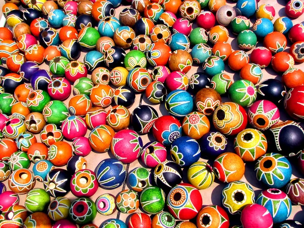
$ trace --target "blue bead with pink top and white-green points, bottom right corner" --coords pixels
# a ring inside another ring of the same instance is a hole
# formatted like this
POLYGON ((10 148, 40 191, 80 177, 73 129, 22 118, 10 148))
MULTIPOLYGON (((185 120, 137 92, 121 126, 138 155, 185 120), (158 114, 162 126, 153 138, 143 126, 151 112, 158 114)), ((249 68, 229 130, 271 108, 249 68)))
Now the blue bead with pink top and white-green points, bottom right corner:
POLYGON ((291 201, 286 195, 277 188, 270 188, 261 192, 256 203, 269 210, 275 223, 285 221, 291 214, 291 201))

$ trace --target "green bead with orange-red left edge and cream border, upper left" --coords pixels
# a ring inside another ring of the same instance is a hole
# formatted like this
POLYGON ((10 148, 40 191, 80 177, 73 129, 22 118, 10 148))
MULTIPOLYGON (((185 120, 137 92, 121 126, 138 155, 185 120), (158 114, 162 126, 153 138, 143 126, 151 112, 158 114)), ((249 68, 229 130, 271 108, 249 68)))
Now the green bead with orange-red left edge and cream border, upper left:
POLYGON ((79 33, 78 43, 84 48, 93 49, 96 47, 96 43, 99 38, 100 34, 97 29, 93 27, 85 27, 79 33))

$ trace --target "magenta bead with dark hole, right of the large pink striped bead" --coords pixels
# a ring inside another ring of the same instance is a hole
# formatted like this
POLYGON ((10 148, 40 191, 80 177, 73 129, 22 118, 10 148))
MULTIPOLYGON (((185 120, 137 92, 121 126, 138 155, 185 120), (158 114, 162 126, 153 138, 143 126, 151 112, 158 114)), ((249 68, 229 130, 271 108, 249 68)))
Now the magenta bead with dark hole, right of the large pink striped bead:
POLYGON ((140 158, 147 167, 154 168, 158 164, 166 161, 166 147, 157 141, 148 142, 142 147, 140 158))

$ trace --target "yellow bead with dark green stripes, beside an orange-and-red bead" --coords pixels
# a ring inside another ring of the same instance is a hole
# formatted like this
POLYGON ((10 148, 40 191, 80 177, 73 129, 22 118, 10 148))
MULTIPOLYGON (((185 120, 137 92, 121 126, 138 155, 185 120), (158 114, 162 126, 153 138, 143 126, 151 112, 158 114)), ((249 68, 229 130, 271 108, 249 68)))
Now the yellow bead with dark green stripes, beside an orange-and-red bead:
POLYGON ((210 187, 214 177, 212 167, 201 161, 193 163, 187 171, 188 181, 199 190, 210 187))

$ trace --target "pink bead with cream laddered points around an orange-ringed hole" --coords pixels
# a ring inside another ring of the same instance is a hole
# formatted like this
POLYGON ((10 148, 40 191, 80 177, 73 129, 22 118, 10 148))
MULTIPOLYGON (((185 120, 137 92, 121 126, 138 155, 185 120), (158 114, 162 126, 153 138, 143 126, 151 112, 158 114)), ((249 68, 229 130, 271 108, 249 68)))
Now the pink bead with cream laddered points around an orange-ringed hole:
POLYGON ((280 111, 273 102, 259 100, 248 109, 248 121, 256 129, 264 131, 280 120, 280 111))

